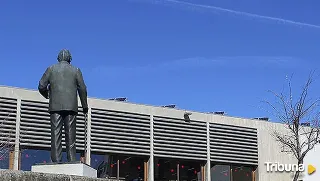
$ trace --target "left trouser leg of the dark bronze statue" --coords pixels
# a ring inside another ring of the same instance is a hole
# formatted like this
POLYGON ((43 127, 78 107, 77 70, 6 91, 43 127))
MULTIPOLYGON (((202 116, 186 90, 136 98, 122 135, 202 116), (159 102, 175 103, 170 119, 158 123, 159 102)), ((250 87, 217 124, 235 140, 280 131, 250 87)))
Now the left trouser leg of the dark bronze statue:
POLYGON ((51 160, 52 162, 62 161, 62 115, 51 113, 51 160))

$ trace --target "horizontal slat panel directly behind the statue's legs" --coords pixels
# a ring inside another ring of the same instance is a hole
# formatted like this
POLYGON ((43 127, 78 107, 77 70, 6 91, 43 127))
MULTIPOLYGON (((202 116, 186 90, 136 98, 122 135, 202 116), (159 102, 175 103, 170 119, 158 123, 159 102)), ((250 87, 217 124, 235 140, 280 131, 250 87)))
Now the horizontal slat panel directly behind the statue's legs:
MULTIPOLYGON (((49 104, 29 100, 21 101, 20 144, 25 148, 46 148, 51 145, 49 104)), ((84 149, 84 116, 80 112, 77 116, 77 150, 84 149)), ((62 130, 62 144, 64 142, 64 130, 62 130)))

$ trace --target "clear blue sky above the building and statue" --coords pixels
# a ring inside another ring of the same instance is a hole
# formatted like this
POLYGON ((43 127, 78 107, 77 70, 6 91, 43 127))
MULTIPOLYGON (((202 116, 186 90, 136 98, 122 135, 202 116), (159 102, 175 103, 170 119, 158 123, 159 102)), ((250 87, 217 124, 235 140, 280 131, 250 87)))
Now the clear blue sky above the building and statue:
POLYGON ((1 1, 0 84, 36 89, 67 48, 91 97, 251 118, 271 117, 260 101, 286 76, 295 91, 318 77, 320 2, 183 2, 1 1))

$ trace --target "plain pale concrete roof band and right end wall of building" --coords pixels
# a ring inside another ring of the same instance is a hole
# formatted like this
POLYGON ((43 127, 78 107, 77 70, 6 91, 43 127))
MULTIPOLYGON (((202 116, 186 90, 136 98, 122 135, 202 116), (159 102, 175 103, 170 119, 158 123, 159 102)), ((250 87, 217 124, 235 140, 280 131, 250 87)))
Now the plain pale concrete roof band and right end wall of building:
MULTIPOLYGON (((17 89, 11 87, 1 87, 0 86, 0 97, 14 97, 37 100, 37 101, 47 101, 45 100, 37 91, 17 89)), ((127 103, 127 102, 117 102, 110 100, 101 100, 96 98, 90 98, 88 100, 89 106, 98 107, 102 109, 110 110, 121 110, 134 113, 144 113, 153 114, 157 116, 166 116, 172 118, 183 119, 183 115, 186 110, 162 108, 155 106, 147 106, 141 104, 127 103)), ((258 180, 259 181, 289 181, 291 180, 291 174, 288 173, 267 173, 265 162, 279 162, 279 163, 295 163, 295 159, 292 155, 281 152, 281 147, 279 143, 275 142, 271 133, 274 130, 286 131, 284 125, 279 123, 272 123, 266 121, 259 121, 253 119, 236 118, 230 116, 213 115, 194 111, 191 112, 190 118, 192 120, 208 121, 214 123, 223 123, 237 126, 246 126, 257 128, 258 130, 258 149, 259 149, 259 166, 258 166, 258 180)))

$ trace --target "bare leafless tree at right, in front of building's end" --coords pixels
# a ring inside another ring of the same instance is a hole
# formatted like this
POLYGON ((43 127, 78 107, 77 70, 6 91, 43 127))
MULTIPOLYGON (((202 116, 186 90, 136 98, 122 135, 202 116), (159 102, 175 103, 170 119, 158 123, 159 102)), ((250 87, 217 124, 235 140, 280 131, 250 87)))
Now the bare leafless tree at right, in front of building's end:
MULTIPOLYGON (((283 148, 288 150, 297 159, 297 164, 303 164, 307 153, 319 142, 319 101, 309 98, 310 86, 313 83, 311 73, 302 87, 301 93, 294 98, 291 78, 288 81, 287 93, 275 93, 276 103, 266 101, 271 106, 272 112, 286 127, 287 132, 273 130, 273 136, 283 148), (305 123, 305 125, 301 125, 305 123)), ((300 171, 294 173, 293 181, 297 181, 300 171)))

